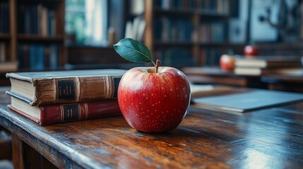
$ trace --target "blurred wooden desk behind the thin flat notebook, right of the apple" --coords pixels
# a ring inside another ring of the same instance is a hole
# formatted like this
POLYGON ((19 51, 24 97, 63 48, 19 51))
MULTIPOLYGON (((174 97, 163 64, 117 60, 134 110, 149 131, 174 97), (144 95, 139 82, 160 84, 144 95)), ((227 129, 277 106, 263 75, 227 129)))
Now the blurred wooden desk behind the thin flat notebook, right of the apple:
POLYGON ((265 89, 266 84, 259 76, 235 75, 233 71, 223 71, 220 68, 189 67, 182 72, 189 81, 199 84, 225 84, 237 87, 256 87, 265 89))

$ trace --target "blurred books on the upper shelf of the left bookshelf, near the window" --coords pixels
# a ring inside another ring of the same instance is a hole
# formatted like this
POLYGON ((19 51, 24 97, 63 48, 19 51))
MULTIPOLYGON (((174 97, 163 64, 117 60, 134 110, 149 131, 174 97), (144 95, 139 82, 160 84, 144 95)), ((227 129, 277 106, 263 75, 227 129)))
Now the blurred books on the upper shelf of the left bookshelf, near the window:
POLYGON ((55 36, 57 35, 56 12, 42 4, 20 4, 18 6, 18 33, 55 36))

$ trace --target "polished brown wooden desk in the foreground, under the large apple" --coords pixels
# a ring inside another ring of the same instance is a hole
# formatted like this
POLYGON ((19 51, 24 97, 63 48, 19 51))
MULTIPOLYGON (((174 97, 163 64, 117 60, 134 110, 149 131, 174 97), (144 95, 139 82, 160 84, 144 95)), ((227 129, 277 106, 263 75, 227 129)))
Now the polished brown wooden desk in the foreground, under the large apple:
POLYGON ((191 107, 176 130, 145 134, 133 130, 123 117, 42 127, 6 108, 9 103, 4 96, 6 89, 0 88, 0 125, 13 134, 14 149, 24 153, 22 156, 14 151, 14 156, 18 156, 14 158, 17 168, 41 167, 34 162, 44 158, 28 156, 27 144, 59 168, 302 168, 303 165, 303 104, 244 114, 191 107), (29 163, 29 159, 35 160, 29 163))

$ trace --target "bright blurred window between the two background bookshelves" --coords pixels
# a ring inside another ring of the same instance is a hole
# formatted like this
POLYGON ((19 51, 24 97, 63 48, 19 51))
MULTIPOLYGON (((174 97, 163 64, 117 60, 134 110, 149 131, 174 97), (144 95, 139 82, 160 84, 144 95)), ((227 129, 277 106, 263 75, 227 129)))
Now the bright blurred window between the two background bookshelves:
POLYGON ((107 0, 66 0, 65 11, 69 44, 107 44, 107 0))

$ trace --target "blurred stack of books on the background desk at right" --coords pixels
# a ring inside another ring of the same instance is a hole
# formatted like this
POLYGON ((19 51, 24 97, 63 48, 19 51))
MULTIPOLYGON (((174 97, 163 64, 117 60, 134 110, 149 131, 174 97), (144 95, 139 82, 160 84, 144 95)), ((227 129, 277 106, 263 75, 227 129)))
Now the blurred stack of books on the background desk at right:
POLYGON ((236 75, 297 74, 302 72, 299 57, 255 56, 236 59, 236 75))

